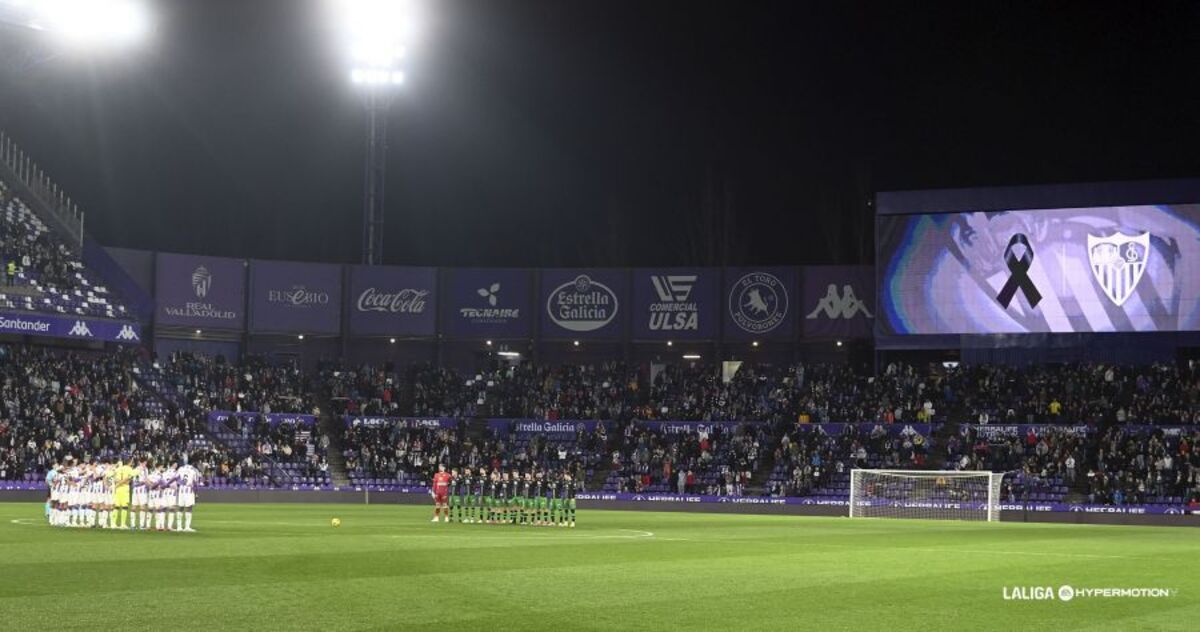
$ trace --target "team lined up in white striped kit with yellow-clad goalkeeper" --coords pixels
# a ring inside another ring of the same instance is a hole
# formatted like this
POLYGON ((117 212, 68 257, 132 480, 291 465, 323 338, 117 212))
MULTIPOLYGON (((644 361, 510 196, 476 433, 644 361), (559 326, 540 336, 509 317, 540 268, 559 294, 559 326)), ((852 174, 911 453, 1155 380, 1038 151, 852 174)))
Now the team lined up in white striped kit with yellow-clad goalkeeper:
POLYGON ((47 518, 53 526, 187 531, 192 529, 199 470, 140 461, 54 464, 47 518))

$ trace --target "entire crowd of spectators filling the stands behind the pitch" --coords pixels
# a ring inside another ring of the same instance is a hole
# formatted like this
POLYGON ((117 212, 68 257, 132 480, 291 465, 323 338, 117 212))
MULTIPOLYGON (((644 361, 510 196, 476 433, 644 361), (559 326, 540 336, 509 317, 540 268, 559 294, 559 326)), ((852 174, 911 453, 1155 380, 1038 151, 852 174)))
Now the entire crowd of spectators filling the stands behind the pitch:
POLYGON ((444 463, 571 469, 581 480, 596 471, 606 490, 738 495, 773 462, 762 490, 774 495, 844 492, 853 468, 941 468, 1019 473, 1008 478, 1009 498, 1076 492, 1110 504, 1189 499, 1200 482, 1200 434, 1156 429, 1200 421, 1193 365, 889 365, 877 375, 748 365, 727 378, 715 367, 620 363, 306 373, 254 356, 233 363, 176 353, 154 363, 166 405, 136 379, 144 366, 130 353, 0 347, 0 480, 28 478, 67 455, 143 455, 186 456, 229 482, 281 474, 325 482, 331 440, 320 426, 268 417, 319 415, 320 393, 337 414, 373 417, 604 420, 574 434, 516 432, 516 423, 487 435, 355 425, 341 452, 355 480, 416 483, 444 463), (212 443, 214 410, 258 415, 230 416, 212 443), (712 423, 690 432, 647 423, 661 420, 712 423), (816 426, 833 421, 874 423, 829 434, 816 426), (935 440, 910 426, 925 421, 977 426, 935 440), (1030 422, 1061 426, 1022 435, 1009 427, 1030 422))

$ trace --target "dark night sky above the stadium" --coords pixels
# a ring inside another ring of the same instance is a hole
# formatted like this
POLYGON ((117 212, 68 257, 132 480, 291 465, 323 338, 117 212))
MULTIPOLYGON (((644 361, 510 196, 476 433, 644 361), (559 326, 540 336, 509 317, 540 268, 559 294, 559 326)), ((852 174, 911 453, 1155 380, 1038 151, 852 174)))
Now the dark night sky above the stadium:
MULTIPOLYGON (((320 2, 155 4, 137 54, 0 65, 0 127, 103 243, 356 261, 320 2)), ((864 263, 874 191, 1200 175, 1198 2, 425 4, 390 264, 721 263, 714 209, 730 263, 864 263)))

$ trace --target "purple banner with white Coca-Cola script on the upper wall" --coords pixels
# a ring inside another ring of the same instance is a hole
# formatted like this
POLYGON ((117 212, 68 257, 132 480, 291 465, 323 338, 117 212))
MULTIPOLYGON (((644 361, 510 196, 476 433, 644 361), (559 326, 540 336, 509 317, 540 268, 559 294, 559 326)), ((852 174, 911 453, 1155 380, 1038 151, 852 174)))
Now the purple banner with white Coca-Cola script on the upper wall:
POLYGON ((350 333, 433 336, 436 294, 436 267, 352 266, 350 333))

